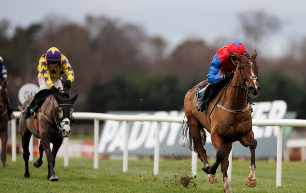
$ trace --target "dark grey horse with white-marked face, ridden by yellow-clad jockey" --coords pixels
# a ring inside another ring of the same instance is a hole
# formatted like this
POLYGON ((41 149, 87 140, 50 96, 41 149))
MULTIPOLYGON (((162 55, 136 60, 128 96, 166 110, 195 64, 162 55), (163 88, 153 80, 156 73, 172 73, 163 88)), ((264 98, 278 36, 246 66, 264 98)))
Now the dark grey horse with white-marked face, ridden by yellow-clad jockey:
MULTIPOLYGON (((62 93, 65 94, 65 93, 62 93)), ((48 161, 48 180, 58 181, 58 177, 54 172, 55 157, 58 149, 61 147, 64 137, 68 137, 70 134, 70 126, 72 121, 73 103, 77 99, 78 95, 69 98, 66 94, 60 97, 56 94, 49 95, 46 97, 44 103, 40 106, 34 119, 34 115, 25 119, 23 117, 23 110, 29 105, 31 98, 27 99, 22 105, 20 119, 19 119, 19 132, 22 138, 23 148, 23 160, 25 162, 25 173, 24 177, 29 178, 29 142, 31 135, 41 139, 39 145, 39 158, 34 162, 35 167, 40 167, 43 160, 43 152, 45 151, 48 161), (38 129, 35 127, 37 123, 38 129), (50 148, 50 142, 53 144, 53 148, 50 148)), ((33 96, 34 97, 34 96, 33 96)))

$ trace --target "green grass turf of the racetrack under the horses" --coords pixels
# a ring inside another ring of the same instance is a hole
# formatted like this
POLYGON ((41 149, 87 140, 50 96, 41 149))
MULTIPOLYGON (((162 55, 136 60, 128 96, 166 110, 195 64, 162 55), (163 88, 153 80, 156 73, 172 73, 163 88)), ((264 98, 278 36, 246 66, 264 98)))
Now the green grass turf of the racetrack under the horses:
MULTIPOLYGON (((217 169, 219 182, 207 183, 207 174, 198 161, 198 175, 188 188, 179 183, 180 176, 191 176, 191 160, 161 160, 159 175, 153 175, 153 160, 129 160, 128 172, 122 172, 122 160, 99 160, 99 169, 93 169, 93 160, 70 158, 69 167, 63 158, 56 158, 58 182, 47 180, 47 161, 35 168, 29 162, 30 178, 24 178, 24 161, 7 157, 6 168, 0 168, 0 192, 223 192, 223 177, 217 169), (141 176, 141 177, 140 177, 141 176), (195 184, 195 185, 194 185, 195 184), (168 187, 167 187, 168 186, 168 187)), ((36 160, 37 157, 34 157, 36 160)), ((213 161, 210 161, 211 164, 213 161)), ((249 161, 233 161, 230 186, 232 192, 305 192, 306 163, 283 163, 282 187, 276 188, 276 162, 256 161, 257 186, 245 185, 249 175, 249 161)))

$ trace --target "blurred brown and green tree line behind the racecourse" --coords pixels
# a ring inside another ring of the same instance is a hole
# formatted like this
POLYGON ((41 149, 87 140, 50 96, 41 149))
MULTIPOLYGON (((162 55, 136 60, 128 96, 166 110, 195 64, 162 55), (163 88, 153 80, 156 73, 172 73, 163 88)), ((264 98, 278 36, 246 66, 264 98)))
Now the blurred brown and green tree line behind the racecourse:
MULTIPOLYGON (((264 12, 254 12, 251 19, 252 13, 241 14, 245 40, 261 42, 261 37, 280 28, 279 20, 264 12), (272 24, 267 22, 271 20, 272 24), (258 29, 261 23, 265 26, 258 29)), ((208 45, 203 40, 186 40, 166 54, 166 40, 146 35, 140 26, 105 16, 87 16, 83 25, 49 17, 44 23, 14 29, 6 19, 0 21, 0 55, 8 70, 13 107, 18 105, 18 90, 23 84, 37 84, 39 58, 55 46, 75 73, 72 94, 79 94, 76 111, 179 110, 187 91, 206 79, 216 51, 231 41, 218 39, 208 45)), ((248 49, 254 45, 250 43, 248 49)), ((282 99, 288 110, 298 111, 298 118, 306 119, 306 38, 290 46, 281 58, 262 57, 259 52, 261 92, 252 101, 282 99)))

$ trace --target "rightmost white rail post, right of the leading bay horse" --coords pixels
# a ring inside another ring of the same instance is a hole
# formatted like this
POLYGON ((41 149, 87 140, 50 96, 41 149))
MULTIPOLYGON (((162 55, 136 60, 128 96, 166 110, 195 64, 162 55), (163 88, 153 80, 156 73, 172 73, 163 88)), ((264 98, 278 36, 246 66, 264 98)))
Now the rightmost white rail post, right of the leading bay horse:
POLYGON ((282 146, 283 146, 283 127, 277 126, 277 149, 276 149, 276 187, 282 185, 282 146))

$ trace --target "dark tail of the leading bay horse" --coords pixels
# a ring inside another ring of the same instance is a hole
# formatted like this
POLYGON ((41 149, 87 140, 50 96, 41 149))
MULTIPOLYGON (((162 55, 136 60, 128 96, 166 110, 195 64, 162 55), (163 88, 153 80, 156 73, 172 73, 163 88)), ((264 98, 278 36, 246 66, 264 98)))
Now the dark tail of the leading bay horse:
MULTIPOLYGON (((184 111, 185 111, 185 109, 184 109, 184 106, 183 106, 182 109, 181 109, 181 112, 183 113, 184 111)), ((188 122, 185 123, 185 125, 184 125, 185 118, 186 118, 186 115, 183 118, 183 132, 182 132, 182 135, 181 135, 182 145, 183 145, 183 147, 187 147, 191 151, 197 153, 198 152, 198 148, 195 145, 194 140, 192 139, 191 132, 190 132, 190 127, 189 127, 188 122), (186 145, 186 143, 187 143, 187 145, 186 145)), ((206 133, 205 133, 205 129, 202 126, 202 124, 200 122, 199 122, 199 124, 201 126, 201 128, 200 128, 200 135, 201 135, 201 140, 202 140, 202 144, 203 144, 203 147, 204 147, 204 145, 206 143, 206 133)))

